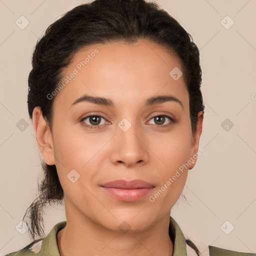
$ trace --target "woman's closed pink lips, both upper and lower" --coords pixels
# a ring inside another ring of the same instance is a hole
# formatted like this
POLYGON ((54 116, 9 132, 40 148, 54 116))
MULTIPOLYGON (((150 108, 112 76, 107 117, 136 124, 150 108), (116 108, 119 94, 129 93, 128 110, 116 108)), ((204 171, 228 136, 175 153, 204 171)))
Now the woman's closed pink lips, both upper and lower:
POLYGON ((116 179, 104 183, 101 187, 108 195, 115 199, 136 201, 151 192, 154 185, 141 179, 116 179))

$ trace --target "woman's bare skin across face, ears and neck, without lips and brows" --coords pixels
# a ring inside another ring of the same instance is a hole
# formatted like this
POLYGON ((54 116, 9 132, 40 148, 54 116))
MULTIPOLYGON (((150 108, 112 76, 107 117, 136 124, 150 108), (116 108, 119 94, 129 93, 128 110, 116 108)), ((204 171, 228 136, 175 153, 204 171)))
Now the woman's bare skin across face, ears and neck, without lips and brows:
POLYGON ((63 77, 95 48, 95 57, 54 96, 52 132, 40 108, 33 111, 37 145, 44 161, 56 165, 64 190, 67 223, 57 233, 60 255, 172 255, 170 210, 196 159, 154 202, 148 197, 196 154, 203 113, 192 134, 183 76, 174 80, 169 75, 174 67, 182 70, 180 62, 148 40, 87 46, 74 54, 63 77), (84 93, 109 98, 114 106, 80 102, 70 107, 84 93), (144 105, 147 98, 166 94, 177 97, 183 108, 174 101, 144 105), (89 114, 103 116, 100 128, 82 125, 96 126, 89 118, 81 121, 89 114), (153 118, 159 115, 174 122, 153 118), (118 126, 123 118, 131 123, 125 132, 118 126), (72 169, 80 174, 74 183, 67 178, 72 169), (137 178, 155 187, 133 202, 112 198, 100 187, 114 179, 137 178), (126 233, 118 228, 123 221, 130 226, 126 233))

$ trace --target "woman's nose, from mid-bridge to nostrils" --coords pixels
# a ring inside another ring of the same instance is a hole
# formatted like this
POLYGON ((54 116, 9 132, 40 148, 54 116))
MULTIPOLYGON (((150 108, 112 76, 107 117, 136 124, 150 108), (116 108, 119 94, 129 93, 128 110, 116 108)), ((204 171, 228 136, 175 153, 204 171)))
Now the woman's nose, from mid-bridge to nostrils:
POLYGON ((145 134, 132 124, 126 131, 117 126, 111 141, 111 162, 126 167, 141 165, 148 161, 149 153, 145 134))

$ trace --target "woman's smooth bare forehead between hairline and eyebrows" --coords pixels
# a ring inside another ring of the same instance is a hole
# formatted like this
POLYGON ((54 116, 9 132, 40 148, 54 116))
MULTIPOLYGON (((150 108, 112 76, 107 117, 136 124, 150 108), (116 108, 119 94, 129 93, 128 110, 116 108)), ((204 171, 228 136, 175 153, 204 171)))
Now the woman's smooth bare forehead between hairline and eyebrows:
POLYGON ((181 73, 179 59, 148 40, 89 45, 78 50, 62 72, 63 86, 54 104, 62 101, 69 107, 84 93, 111 98, 116 103, 124 98, 144 100, 145 96, 170 92, 188 100, 183 76, 175 80, 171 70, 181 73))

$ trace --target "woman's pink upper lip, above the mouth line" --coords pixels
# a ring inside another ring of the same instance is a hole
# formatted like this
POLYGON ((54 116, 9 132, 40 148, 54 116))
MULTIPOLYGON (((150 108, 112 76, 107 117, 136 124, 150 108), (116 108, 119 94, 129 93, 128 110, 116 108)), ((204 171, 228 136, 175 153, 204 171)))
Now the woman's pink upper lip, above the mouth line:
POLYGON ((154 187, 154 185, 152 185, 144 180, 141 180, 141 179, 133 179, 133 180, 116 179, 116 180, 106 182, 102 186, 122 188, 122 189, 154 187))

